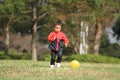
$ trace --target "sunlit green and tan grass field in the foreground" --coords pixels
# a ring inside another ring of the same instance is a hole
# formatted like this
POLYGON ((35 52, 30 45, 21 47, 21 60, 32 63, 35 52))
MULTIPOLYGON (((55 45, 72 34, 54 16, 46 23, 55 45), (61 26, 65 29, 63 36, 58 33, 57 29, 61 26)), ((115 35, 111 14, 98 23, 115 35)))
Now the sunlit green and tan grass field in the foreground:
POLYGON ((0 80, 120 80, 120 64, 81 63, 71 69, 62 62, 51 69, 47 61, 0 60, 0 80))

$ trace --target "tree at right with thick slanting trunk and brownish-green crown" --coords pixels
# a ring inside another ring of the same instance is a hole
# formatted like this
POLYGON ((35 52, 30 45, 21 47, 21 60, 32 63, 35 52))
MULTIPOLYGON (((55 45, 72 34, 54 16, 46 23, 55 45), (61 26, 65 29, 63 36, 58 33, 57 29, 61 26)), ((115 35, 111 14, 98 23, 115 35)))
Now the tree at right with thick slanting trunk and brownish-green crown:
POLYGON ((93 51, 94 54, 98 55, 104 28, 106 25, 111 26, 114 23, 113 20, 116 18, 114 17, 114 13, 118 13, 117 11, 119 10, 120 5, 118 0, 87 0, 87 2, 94 13, 94 18, 96 20, 96 35, 93 51))

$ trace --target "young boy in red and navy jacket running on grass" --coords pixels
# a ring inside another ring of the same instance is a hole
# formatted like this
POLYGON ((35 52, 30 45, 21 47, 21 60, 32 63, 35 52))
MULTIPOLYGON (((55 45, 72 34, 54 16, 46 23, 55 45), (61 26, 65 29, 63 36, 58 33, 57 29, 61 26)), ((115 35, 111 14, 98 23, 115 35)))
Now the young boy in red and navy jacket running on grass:
POLYGON ((61 31, 62 24, 55 23, 54 24, 54 31, 48 35, 48 41, 51 42, 50 49, 51 49, 51 61, 50 61, 50 68, 54 68, 56 55, 57 55, 57 67, 61 67, 61 60, 62 60, 62 52, 63 52, 63 42, 65 47, 68 46, 68 39, 65 34, 61 31))

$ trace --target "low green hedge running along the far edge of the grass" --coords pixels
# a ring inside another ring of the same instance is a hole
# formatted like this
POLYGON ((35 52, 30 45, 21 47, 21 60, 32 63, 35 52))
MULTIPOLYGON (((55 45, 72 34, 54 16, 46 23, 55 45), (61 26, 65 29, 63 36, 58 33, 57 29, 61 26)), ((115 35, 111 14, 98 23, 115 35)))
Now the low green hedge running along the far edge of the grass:
MULTIPOLYGON (((17 59, 17 60, 31 60, 31 55, 28 53, 17 53, 12 52, 9 55, 4 55, 3 52, 0 52, 0 59, 17 59)), ((38 61, 50 61, 50 54, 40 54, 37 56, 38 61)), ((103 55, 64 55, 62 58, 63 61, 72 61, 78 60, 80 62, 93 62, 93 63, 120 63, 119 58, 103 56, 103 55)))

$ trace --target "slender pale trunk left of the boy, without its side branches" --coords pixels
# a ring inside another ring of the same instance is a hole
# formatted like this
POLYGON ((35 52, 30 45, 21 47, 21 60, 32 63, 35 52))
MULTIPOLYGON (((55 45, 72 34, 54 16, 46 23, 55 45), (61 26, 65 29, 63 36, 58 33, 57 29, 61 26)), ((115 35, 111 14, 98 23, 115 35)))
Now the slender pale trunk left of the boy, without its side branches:
POLYGON ((36 32, 37 32, 37 0, 33 1, 33 33, 32 33, 32 40, 31 40, 31 53, 32 53, 32 60, 37 61, 37 49, 36 49, 36 32))

